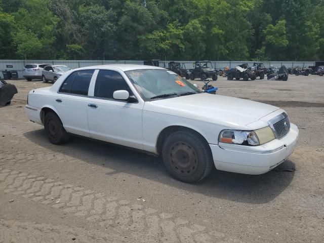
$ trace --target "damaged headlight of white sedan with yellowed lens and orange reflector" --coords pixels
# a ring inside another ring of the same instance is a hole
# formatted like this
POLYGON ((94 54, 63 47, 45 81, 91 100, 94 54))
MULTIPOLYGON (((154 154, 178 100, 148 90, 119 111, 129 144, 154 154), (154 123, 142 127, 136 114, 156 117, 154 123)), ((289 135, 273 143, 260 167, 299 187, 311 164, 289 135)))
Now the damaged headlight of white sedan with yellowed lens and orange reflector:
POLYGON ((219 142, 241 145, 261 145, 275 139, 270 127, 255 131, 224 130, 219 135, 219 142))

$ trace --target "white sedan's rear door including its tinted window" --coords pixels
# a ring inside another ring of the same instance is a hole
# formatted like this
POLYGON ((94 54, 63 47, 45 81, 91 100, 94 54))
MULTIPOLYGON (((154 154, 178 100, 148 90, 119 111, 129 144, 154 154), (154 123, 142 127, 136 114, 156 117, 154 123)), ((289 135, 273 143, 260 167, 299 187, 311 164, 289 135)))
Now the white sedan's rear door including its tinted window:
POLYGON ((72 72, 55 97, 54 106, 69 133, 90 137, 87 107, 90 103, 88 92, 94 72, 93 69, 72 72))

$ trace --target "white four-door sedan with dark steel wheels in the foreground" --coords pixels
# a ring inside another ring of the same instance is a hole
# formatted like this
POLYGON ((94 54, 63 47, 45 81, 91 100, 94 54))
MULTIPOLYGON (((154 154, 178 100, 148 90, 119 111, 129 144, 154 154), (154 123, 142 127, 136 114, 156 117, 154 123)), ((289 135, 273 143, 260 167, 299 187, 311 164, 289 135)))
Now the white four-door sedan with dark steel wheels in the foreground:
POLYGON ((263 174, 294 151, 287 113, 254 101, 201 93, 165 68, 103 65, 63 74, 29 92, 28 118, 49 140, 71 134, 161 155, 170 174, 197 182, 216 169, 263 174))

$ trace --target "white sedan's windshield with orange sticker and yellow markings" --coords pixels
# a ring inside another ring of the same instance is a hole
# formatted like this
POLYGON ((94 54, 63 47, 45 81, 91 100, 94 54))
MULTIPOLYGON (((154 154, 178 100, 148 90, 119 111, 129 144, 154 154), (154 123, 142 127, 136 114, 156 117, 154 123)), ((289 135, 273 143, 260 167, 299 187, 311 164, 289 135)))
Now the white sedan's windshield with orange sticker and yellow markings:
POLYGON ((125 72, 144 100, 201 93, 178 74, 165 69, 139 69, 125 72))

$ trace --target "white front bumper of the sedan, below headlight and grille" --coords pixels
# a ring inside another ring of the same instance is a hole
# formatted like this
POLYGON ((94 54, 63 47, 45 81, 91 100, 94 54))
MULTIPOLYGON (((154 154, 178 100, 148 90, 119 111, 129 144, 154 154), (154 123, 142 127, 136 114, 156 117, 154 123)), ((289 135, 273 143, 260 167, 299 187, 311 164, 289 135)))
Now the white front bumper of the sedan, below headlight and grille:
POLYGON ((264 174, 284 162, 295 150, 298 128, 291 124, 289 133, 260 146, 210 144, 217 170, 241 174, 264 174))

